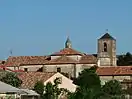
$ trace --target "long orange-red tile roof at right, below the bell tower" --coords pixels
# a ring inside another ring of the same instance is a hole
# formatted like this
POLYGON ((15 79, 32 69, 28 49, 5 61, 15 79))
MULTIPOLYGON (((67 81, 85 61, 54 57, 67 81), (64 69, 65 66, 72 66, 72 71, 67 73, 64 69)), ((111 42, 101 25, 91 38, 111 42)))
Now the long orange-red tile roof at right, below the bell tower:
POLYGON ((132 75, 132 66, 98 67, 97 74, 100 76, 132 75))

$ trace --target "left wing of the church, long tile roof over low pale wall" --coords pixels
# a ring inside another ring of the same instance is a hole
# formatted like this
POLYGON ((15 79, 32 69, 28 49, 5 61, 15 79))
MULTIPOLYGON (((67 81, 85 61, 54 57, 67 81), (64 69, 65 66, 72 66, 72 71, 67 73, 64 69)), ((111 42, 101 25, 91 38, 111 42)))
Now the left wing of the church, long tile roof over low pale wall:
POLYGON ((3 66, 11 70, 38 71, 48 56, 9 56, 3 66))

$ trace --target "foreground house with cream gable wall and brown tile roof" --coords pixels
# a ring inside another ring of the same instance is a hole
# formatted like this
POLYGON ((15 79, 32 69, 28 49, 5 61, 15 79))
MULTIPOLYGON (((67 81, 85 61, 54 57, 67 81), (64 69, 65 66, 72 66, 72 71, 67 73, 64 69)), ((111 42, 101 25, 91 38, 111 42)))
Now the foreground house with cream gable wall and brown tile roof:
POLYGON ((65 77, 60 73, 44 73, 44 72, 22 72, 18 74, 18 77, 22 80, 21 88, 33 89, 34 85, 38 81, 42 81, 44 84, 47 82, 53 83, 56 78, 61 79, 61 84, 59 84, 59 88, 65 88, 70 92, 74 92, 76 90, 76 85, 72 83, 72 80, 65 77))

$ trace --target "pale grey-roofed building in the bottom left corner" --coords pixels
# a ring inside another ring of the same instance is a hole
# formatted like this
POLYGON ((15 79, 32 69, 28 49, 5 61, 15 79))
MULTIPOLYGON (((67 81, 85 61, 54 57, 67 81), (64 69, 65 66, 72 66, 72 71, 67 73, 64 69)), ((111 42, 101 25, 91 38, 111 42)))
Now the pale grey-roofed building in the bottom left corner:
POLYGON ((0 81, 0 99, 39 99, 39 94, 26 89, 15 88, 9 84, 0 81), (26 98, 28 97, 28 98, 26 98))

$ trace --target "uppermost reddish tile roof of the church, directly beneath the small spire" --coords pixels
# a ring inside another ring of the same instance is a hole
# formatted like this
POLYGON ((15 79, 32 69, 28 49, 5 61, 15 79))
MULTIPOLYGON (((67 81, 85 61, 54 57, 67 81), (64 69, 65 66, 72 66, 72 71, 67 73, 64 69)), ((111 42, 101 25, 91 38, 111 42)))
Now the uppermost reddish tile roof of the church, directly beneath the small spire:
POLYGON ((83 53, 78 52, 72 48, 64 48, 60 50, 59 52, 55 52, 51 54, 51 56, 61 56, 61 55, 83 55, 83 53))

